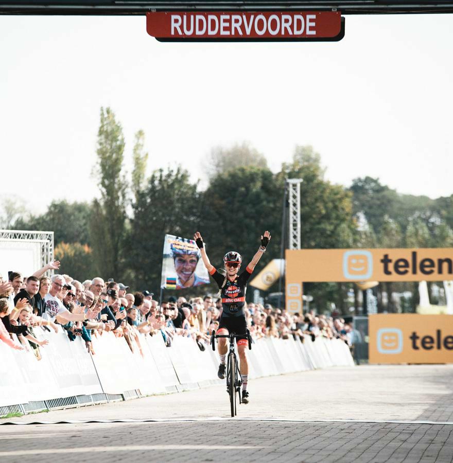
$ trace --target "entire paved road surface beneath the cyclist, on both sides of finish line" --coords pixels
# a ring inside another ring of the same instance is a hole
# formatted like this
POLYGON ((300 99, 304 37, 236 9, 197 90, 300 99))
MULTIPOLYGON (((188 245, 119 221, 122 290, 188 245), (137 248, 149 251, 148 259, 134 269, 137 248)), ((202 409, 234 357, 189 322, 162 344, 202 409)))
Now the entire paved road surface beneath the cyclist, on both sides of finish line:
POLYGON ((453 462, 453 365, 330 368, 249 391, 236 418, 222 385, 3 419, 0 461, 453 462))

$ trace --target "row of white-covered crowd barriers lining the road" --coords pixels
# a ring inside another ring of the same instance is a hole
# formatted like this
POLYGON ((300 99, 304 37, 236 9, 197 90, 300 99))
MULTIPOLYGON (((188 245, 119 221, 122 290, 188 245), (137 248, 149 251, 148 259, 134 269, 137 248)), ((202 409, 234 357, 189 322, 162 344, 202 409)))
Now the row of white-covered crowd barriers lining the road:
MULTIPOLYGON (((131 351, 124 338, 111 332, 93 336, 94 353, 78 337, 66 332, 36 329, 38 339, 48 339, 38 361, 28 352, 0 342, 0 415, 47 408, 125 400, 140 396, 221 384, 218 356, 211 346, 201 351, 188 337, 176 336, 166 347, 160 333, 139 335, 131 351)), ((343 341, 317 338, 304 342, 263 338, 247 350, 249 377, 260 378, 333 366, 353 366, 343 341)))

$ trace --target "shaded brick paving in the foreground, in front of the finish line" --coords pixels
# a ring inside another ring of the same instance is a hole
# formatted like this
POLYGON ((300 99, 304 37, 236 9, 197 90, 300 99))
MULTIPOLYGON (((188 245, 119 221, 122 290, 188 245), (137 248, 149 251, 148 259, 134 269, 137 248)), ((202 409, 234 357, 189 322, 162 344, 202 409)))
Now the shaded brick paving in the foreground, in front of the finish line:
POLYGON ((212 421, 4 426, 0 460, 451 462, 453 426, 212 421))

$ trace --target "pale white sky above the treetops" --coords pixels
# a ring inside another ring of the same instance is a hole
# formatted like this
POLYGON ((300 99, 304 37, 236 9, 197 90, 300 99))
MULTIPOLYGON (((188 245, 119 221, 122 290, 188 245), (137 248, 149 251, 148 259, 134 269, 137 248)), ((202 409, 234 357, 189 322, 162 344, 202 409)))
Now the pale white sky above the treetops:
POLYGON ((0 196, 35 212, 91 200, 100 106, 143 129, 152 169, 205 179, 214 146, 242 141, 273 171, 312 145, 326 177, 453 193, 453 15, 347 15, 327 43, 159 43, 145 16, 0 16, 0 196))

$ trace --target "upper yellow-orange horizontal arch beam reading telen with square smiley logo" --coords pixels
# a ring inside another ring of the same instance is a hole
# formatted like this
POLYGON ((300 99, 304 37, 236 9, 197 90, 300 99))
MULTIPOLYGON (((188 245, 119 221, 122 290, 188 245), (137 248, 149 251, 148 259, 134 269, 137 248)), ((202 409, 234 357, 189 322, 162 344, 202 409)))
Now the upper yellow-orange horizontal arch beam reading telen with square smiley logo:
POLYGON ((439 281, 453 279, 453 248, 286 251, 286 280, 439 281))

